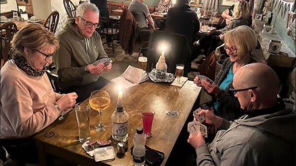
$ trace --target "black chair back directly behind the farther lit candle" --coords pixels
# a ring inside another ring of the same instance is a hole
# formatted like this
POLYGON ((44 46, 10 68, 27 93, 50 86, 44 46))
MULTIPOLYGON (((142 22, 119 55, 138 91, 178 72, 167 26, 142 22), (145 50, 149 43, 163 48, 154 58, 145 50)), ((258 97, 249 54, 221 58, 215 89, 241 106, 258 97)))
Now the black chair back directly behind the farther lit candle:
POLYGON ((165 62, 168 66, 167 72, 174 73, 177 64, 183 64, 184 76, 189 72, 191 61, 191 50, 187 38, 177 33, 167 33, 163 31, 154 31, 149 39, 147 71, 155 68, 161 55, 161 46, 165 45, 165 62))

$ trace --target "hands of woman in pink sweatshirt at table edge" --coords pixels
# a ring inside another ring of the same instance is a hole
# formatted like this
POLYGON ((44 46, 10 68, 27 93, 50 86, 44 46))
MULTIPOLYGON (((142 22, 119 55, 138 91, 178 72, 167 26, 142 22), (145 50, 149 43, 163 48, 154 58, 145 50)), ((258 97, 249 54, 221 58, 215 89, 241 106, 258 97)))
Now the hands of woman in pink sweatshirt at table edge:
POLYGON ((73 107, 76 104, 77 94, 75 92, 63 95, 56 103, 59 105, 61 111, 73 107))

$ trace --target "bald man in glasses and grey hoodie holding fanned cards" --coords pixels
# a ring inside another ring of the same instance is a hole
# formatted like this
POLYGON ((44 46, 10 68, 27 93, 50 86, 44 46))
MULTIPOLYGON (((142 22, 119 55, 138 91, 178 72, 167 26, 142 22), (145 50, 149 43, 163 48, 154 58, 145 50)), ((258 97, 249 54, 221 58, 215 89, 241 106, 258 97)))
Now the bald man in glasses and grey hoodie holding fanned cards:
POLYGON ((199 112, 218 132, 208 145, 200 132, 189 135, 197 166, 295 166, 295 109, 277 100, 276 73, 264 64, 246 65, 236 71, 233 87, 246 115, 228 122, 209 110, 199 112))

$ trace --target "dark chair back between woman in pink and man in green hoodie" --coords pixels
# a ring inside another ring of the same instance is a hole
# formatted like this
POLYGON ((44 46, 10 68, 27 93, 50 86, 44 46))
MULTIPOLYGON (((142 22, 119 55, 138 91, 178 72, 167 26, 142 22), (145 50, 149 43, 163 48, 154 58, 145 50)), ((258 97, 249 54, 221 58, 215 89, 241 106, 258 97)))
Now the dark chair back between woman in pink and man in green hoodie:
POLYGON ((53 62, 45 65, 46 74, 50 80, 50 84, 51 84, 54 92, 60 93, 61 91, 60 91, 59 84, 58 84, 60 78, 57 74, 55 74, 53 72, 53 70, 55 70, 55 69, 56 69, 56 66, 54 65, 53 62))

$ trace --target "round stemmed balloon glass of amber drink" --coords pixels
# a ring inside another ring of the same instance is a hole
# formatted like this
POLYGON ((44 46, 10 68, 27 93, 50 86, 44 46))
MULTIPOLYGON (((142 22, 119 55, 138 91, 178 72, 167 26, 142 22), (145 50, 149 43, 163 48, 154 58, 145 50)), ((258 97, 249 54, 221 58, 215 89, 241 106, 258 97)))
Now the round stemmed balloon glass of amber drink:
POLYGON ((101 114, 102 110, 106 109, 110 105, 110 96, 107 91, 96 90, 90 94, 89 105, 92 109, 99 112, 99 124, 94 126, 95 131, 101 132, 104 131, 107 127, 106 124, 101 123, 101 114))

